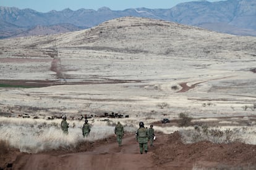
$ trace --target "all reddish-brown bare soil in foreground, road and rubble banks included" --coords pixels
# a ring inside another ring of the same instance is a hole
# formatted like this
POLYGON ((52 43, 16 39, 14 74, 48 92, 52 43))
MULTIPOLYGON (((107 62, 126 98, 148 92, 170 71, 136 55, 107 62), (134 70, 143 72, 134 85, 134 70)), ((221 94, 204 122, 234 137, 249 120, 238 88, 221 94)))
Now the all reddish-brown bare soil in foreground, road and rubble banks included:
MULTIPOLYGON (((84 142, 76 148, 28 154, 10 149, 1 154, 3 169, 255 169, 256 145, 213 144, 203 141, 183 144, 178 132, 156 134, 154 147, 139 154, 134 134, 124 136, 118 147, 114 136, 84 142)), ((0 169, 1 169, 0 168, 0 169)))

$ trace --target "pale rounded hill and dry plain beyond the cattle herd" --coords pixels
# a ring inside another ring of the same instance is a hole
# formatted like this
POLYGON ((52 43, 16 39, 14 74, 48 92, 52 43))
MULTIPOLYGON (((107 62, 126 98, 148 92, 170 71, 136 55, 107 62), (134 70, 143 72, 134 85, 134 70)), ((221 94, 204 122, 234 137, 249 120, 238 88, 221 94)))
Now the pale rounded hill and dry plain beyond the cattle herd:
POLYGON ((243 107, 255 103, 255 44, 255 37, 136 17, 4 39, 1 84, 43 87, 1 89, 0 107, 50 115, 251 115, 243 107))

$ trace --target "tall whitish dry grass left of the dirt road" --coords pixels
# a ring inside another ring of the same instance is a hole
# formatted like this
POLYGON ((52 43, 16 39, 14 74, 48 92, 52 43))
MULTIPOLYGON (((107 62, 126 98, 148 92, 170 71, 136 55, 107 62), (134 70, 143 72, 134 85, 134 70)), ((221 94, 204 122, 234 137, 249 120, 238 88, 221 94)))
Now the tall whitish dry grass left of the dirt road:
MULTIPOLYGON (((105 139, 114 135, 114 126, 108 121, 89 121, 90 136, 83 138, 83 121, 68 121, 69 134, 61 131, 61 119, 30 119, 0 117, 0 140, 20 152, 38 153, 58 148, 75 148, 84 141, 105 139), (74 126, 75 125, 75 126, 74 126)), ((134 132, 135 127, 124 126, 125 132, 134 132)), ((1 145, 4 143, 1 142, 1 145)))

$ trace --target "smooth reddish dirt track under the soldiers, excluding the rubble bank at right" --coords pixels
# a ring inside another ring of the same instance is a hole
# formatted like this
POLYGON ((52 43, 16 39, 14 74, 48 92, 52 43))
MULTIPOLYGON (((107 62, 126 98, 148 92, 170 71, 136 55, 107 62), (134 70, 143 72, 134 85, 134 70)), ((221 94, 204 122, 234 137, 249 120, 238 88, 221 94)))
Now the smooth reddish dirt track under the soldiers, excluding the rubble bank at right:
POLYGON ((122 147, 117 142, 106 142, 90 152, 25 155, 15 162, 14 169, 154 169, 152 155, 152 151, 141 155, 139 144, 129 134, 122 147))

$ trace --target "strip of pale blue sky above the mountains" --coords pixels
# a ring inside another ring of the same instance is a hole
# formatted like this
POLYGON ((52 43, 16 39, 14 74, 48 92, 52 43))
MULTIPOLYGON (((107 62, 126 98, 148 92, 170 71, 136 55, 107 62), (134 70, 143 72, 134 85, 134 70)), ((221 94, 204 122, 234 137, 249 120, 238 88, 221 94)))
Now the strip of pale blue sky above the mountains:
MULTIPOLYGON (((0 0, 0 6, 17 7, 19 9, 30 8, 38 12, 49 12, 50 10, 63 10, 66 8, 94 9, 109 7, 111 10, 124 10, 129 8, 146 7, 149 9, 170 9, 181 2, 190 0, 0 0)), ((216 2, 220 0, 208 0, 216 2)))

